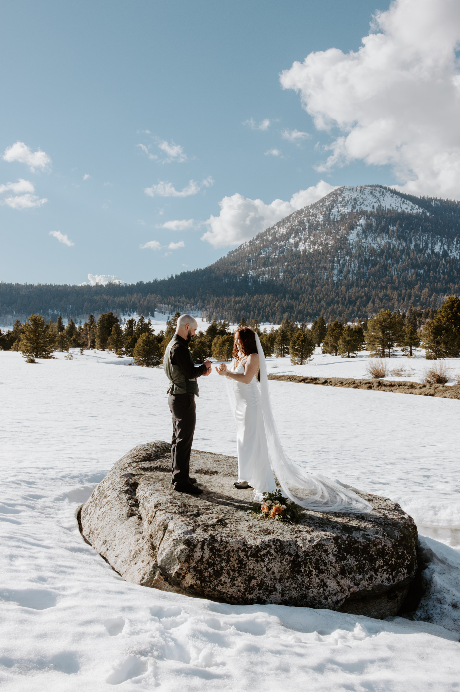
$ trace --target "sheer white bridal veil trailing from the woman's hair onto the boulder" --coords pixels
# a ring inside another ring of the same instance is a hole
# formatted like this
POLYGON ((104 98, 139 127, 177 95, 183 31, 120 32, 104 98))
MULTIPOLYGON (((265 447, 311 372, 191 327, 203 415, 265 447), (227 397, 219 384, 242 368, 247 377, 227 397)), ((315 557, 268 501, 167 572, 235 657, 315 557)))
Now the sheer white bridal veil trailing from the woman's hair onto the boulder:
MULTIPOLYGON (((283 493, 289 500, 300 507, 314 511, 327 512, 366 512, 372 510, 372 505, 357 493, 323 475, 314 475, 291 461, 282 448, 275 419, 271 410, 267 363, 262 351, 260 339, 256 334, 257 352, 260 362, 260 395, 262 412, 267 435, 269 462, 283 493), (300 493, 300 494, 299 494, 300 493)), ((227 379, 227 378, 226 378, 227 379)), ((229 384, 231 384, 229 382, 229 384)), ((234 409, 233 390, 229 389, 231 406, 234 409), (233 395, 233 396, 232 396, 233 395)))

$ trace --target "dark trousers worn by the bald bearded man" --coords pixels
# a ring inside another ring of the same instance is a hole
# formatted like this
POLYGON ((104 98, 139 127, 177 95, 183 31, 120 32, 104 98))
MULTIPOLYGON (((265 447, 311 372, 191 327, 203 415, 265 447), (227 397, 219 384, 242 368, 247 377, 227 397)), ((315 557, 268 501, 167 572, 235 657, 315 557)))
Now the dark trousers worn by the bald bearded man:
POLYGON ((185 484, 189 482, 190 453, 196 423, 195 394, 169 394, 168 404, 173 414, 173 483, 185 484))

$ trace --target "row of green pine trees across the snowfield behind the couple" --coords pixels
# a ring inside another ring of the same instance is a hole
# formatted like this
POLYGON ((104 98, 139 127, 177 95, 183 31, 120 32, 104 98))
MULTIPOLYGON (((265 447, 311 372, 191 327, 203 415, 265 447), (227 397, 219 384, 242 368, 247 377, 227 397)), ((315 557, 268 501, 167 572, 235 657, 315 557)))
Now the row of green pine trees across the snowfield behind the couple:
MULTIPOLYGON (((65 327, 61 316, 56 322, 45 322, 43 316, 34 314, 24 324, 16 320, 14 327, 5 333, 0 329, 0 348, 21 352, 30 362, 72 348, 79 348, 81 353, 85 349, 108 349, 119 357, 133 357, 137 365, 155 366, 162 362, 180 314, 177 311, 167 320, 166 329, 158 334, 151 320, 144 316, 137 320, 129 318, 123 326, 109 311, 99 316, 99 320, 90 315, 78 327, 70 318, 65 327)), ((241 316, 240 326, 245 325, 247 321, 241 316)), ((311 327, 288 318, 282 320, 278 329, 261 329, 254 319, 249 326, 257 332, 267 358, 290 356, 294 365, 308 363, 316 347, 321 347, 325 354, 344 358, 352 358, 362 350, 369 351, 371 356, 390 358, 395 347, 410 357, 419 347, 425 349, 428 359, 460 356, 460 299, 454 295, 439 309, 380 310, 368 320, 358 320, 352 325, 340 320, 327 323, 321 315, 311 327)), ((189 348, 195 363, 207 358, 229 361, 233 342, 234 333, 227 320, 214 318, 207 329, 197 331, 189 348)))

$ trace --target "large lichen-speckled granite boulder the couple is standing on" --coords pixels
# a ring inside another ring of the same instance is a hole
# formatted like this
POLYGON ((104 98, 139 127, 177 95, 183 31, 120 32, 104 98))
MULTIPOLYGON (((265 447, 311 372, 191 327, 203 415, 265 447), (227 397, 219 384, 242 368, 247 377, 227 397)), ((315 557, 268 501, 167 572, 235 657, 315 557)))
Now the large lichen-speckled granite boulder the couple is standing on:
POLYGON ((395 615, 416 572, 417 531, 399 504, 360 493, 370 513, 302 511, 297 525, 251 516, 235 457, 193 451, 202 495, 171 486, 171 446, 135 447, 79 513, 80 529, 135 584, 227 603, 395 615))

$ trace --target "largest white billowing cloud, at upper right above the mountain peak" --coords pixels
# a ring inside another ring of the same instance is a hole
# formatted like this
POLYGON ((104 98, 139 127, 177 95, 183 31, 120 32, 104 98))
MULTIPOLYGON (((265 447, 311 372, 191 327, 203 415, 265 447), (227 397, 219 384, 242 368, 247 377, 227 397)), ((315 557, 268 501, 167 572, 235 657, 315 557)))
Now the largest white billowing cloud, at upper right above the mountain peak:
POLYGON ((396 0, 371 32, 356 53, 310 53, 280 76, 318 129, 338 128, 318 170, 391 165, 406 191, 459 199, 460 3, 396 0))

